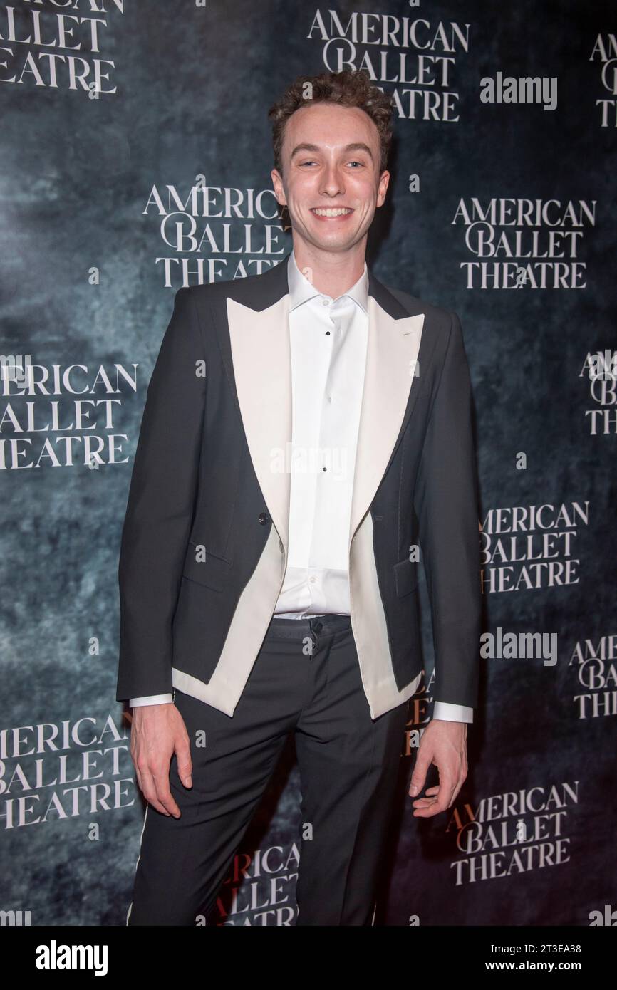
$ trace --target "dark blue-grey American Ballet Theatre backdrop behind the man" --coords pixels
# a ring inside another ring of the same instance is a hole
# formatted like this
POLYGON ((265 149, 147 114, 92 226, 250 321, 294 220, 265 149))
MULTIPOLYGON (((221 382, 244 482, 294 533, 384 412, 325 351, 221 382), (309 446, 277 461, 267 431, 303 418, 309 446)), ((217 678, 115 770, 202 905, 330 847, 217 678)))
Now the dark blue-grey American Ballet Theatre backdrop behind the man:
MULTIPOLYGON (((378 278, 461 317, 484 618, 456 804, 400 741, 376 925, 615 925, 617 7, 591 0, 0 3, 4 925, 123 926, 144 803, 115 700, 117 565, 182 285, 291 249, 267 110, 365 69, 394 102, 378 278), (435 782, 433 780, 430 781, 435 782)), ((289 742, 210 926, 295 922, 289 742)), ((324 892, 327 896, 327 892, 324 892)))

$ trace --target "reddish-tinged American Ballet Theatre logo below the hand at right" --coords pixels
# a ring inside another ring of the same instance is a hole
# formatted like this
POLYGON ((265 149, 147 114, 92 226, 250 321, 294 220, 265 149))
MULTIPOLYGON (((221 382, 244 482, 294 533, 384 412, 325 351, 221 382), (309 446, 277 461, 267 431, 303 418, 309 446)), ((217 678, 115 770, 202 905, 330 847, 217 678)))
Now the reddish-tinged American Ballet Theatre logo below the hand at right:
POLYGON ((456 805, 447 832, 461 857, 450 863, 457 887, 518 876, 569 861, 567 829, 578 783, 541 784, 456 805))

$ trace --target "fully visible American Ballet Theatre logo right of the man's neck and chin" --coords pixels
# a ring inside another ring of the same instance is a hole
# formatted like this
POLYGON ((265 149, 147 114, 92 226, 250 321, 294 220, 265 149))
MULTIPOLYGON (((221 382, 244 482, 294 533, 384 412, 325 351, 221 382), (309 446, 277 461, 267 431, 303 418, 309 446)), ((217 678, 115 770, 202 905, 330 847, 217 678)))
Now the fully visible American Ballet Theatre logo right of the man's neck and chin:
POLYGON ((467 289, 584 289, 579 258, 595 227, 596 200, 461 199, 452 224, 463 227, 467 289))

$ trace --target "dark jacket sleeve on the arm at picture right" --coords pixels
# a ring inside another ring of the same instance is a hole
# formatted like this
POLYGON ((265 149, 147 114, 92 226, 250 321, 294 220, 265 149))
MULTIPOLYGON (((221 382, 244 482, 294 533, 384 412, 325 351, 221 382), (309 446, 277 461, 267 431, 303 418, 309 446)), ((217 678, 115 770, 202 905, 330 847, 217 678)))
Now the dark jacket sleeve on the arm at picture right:
POLYGON ((433 620, 435 718, 442 703, 477 704, 481 621, 471 382, 461 322, 456 313, 451 320, 414 489, 433 620))

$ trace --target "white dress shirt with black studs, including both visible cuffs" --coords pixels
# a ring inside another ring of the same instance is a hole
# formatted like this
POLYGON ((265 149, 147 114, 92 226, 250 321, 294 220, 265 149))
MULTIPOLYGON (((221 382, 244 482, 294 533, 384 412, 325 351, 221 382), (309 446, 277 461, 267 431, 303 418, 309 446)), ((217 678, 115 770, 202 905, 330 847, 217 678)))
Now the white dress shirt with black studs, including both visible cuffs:
MULTIPOLYGON (((308 274, 308 272, 307 272, 308 274)), ((274 615, 349 615, 349 531, 368 342, 368 270, 337 299, 288 260, 292 438, 287 567, 274 615)), ((416 678, 419 685, 422 674, 416 678)), ((172 702, 132 698, 132 707, 172 702)), ((471 722, 473 709, 437 701, 433 718, 471 722)))

